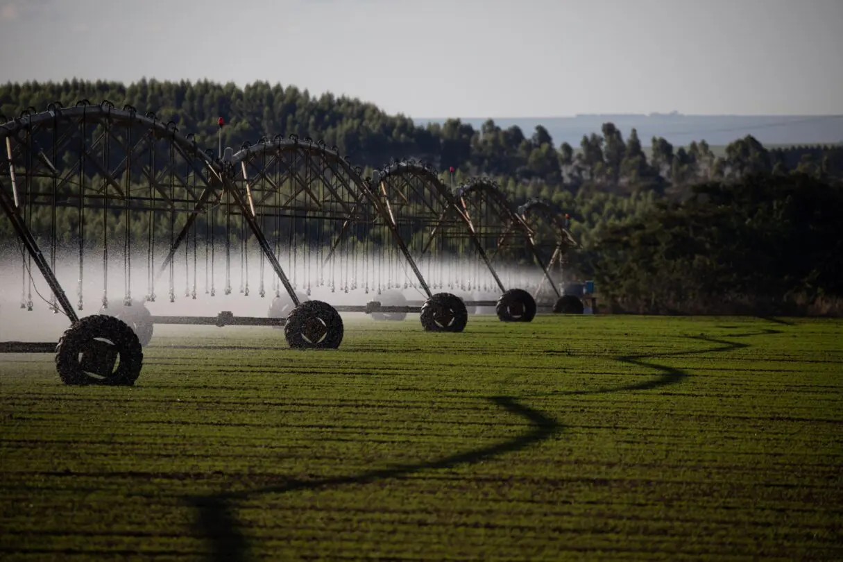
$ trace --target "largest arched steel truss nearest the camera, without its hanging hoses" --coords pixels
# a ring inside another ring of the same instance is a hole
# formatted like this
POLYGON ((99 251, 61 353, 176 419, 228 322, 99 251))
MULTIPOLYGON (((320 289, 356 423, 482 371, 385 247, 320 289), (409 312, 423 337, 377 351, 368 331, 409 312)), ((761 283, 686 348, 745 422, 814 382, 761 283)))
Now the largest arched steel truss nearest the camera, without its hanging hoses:
MULTIPOLYGON (((122 207, 121 210, 126 211, 186 213, 188 222, 192 222, 205 211, 212 196, 219 199, 223 194, 230 195, 231 204, 244 215, 271 268, 292 292, 286 274, 266 244, 254 217, 246 212, 243 197, 224 181, 220 163, 202 151, 192 136, 181 136, 173 121, 165 124, 154 114, 140 115, 131 106, 119 110, 109 102, 93 105, 82 101, 72 108, 51 104, 45 113, 27 113, 0 127, 0 142, 7 147, 6 158, 0 159, 0 182, 8 172, 15 200, 13 212, 5 207, 4 211, 19 227, 22 225, 14 217, 21 217, 22 201, 19 200, 24 196, 26 202, 34 206, 64 206, 85 211, 102 209, 110 203, 113 208, 122 207), (49 137, 50 147, 41 146, 40 133, 49 137), (89 134, 92 142, 86 143, 89 134), (62 166, 58 158, 72 149, 73 141, 79 142, 78 159, 70 166, 62 166), (142 161, 142 155, 149 158, 148 161, 142 161), (15 172, 16 165, 25 169, 24 194, 19 193, 21 179, 15 172), (86 173, 86 168, 92 169, 94 174, 86 173), (141 188, 133 185, 133 179, 137 177, 147 180, 148 194, 146 191, 139 194, 141 188), (51 188, 38 187, 38 179, 51 183, 51 188), (31 189, 33 186, 35 189, 31 189), (66 190, 67 187, 70 189, 66 190), (159 206, 159 201, 164 205, 159 206)), ((34 239, 31 233, 26 238, 34 239)), ((31 250, 30 254, 33 254, 31 250)), ((40 254, 37 248, 35 254, 40 254)), ((33 258, 54 289, 57 280, 52 268, 44 267, 46 263, 35 255, 33 258)), ((171 256, 165 260, 165 265, 169 260, 171 256)), ((62 303, 62 310, 68 318, 75 316, 66 308, 66 303, 62 303)))

